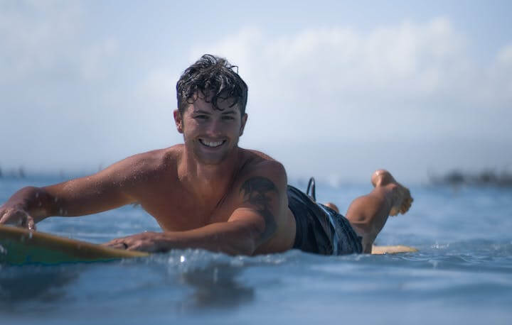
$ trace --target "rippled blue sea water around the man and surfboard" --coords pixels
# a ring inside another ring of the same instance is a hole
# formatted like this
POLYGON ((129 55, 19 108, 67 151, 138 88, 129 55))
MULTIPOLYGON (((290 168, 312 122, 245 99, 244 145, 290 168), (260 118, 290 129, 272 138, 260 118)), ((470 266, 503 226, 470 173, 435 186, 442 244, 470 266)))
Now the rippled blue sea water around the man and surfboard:
MULTIPOLYGON (((26 184, 57 180, 0 179, 0 202, 26 184)), ((369 190, 317 184, 316 196, 346 211, 369 190)), ((512 189, 411 191, 412 209, 390 219, 378 243, 418 253, 249 258, 175 250, 110 263, 0 265, 0 324, 512 324, 512 189)), ((38 229, 102 243, 159 227, 124 206, 47 219, 38 229)))

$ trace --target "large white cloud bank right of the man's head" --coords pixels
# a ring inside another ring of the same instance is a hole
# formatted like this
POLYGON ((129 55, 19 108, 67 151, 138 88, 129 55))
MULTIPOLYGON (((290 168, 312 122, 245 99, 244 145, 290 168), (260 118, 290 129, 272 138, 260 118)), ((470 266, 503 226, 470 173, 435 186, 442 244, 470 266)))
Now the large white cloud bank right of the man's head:
POLYGON ((444 17, 369 31, 252 27, 198 45, 191 60, 214 53, 240 66, 250 87, 241 143, 290 174, 361 180, 353 173, 388 167, 418 180, 512 160, 511 47, 479 62, 471 41, 444 17))

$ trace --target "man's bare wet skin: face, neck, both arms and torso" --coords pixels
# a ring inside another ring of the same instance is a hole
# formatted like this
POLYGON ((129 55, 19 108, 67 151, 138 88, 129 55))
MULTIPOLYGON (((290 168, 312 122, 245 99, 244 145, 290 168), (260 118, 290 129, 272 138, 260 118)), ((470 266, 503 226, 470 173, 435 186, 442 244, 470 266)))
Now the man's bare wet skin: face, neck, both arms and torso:
POLYGON ((48 216, 80 216, 138 203, 162 228, 107 243, 166 251, 205 248, 230 254, 275 253, 292 247, 295 221, 284 167, 238 148, 247 115, 230 101, 220 109, 199 97, 180 114, 184 145, 134 155, 89 177, 26 187, 0 207, 1 224, 35 228, 48 216))

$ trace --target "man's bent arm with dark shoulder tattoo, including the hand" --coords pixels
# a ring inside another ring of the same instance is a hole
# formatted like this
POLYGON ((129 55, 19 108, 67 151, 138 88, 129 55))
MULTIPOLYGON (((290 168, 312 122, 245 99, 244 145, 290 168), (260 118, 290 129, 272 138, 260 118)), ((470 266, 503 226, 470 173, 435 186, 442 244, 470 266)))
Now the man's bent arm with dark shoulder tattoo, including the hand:
POLYGON ((118 238, 106 246, 164 252, 174 248, 203 248, 230 255, 252 255, 277 230, 278 218, 287 211, 287 178, 284 167, 267 162, 264 172, 245 177, 236 189, 238 207, 228 221, 190 231, 146 232, 118 238))

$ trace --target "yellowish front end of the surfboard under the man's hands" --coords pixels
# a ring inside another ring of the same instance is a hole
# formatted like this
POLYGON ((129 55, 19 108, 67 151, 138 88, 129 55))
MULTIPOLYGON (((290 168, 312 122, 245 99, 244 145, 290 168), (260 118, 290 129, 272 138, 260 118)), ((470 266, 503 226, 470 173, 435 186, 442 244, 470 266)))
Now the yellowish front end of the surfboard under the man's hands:
POLYGON ((41 231, 0 225, 0 263, 53 265, 139 258, 147 255, 149 254, 100 246, 41 231))

